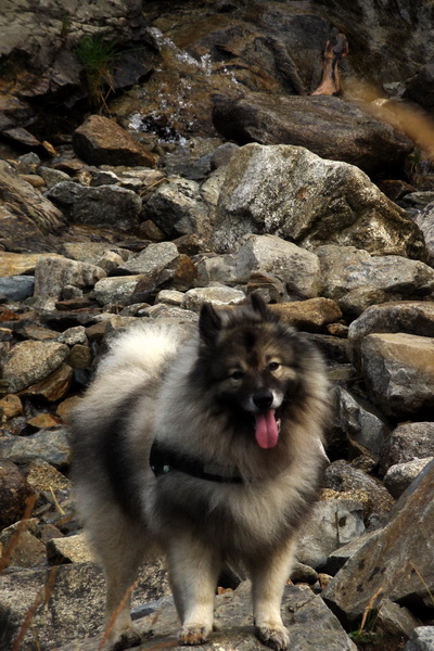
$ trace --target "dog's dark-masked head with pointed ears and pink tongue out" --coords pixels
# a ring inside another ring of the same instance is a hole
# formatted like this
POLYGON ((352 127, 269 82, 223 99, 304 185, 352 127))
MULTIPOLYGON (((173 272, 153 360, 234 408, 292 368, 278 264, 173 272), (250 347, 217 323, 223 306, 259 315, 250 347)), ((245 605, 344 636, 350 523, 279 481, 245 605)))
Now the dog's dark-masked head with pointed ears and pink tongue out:
POLYGON ((303 394, 316 352, 258 294, 232 309, 204 304, 199 329, 203 390, 217 409, 254 431, 260 447, 276 447, 280 418, 303 394))

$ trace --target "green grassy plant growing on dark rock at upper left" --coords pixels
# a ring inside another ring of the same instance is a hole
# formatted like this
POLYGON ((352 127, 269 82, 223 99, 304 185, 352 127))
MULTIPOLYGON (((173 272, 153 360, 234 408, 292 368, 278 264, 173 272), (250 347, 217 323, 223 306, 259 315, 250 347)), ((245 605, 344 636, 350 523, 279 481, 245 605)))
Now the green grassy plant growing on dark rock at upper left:
POLYGON ((114 90, 113 62, 119 54, 117 43, 102 35, 84 36, 74 52, 85 68, 90 104, 101 111, 114 90))

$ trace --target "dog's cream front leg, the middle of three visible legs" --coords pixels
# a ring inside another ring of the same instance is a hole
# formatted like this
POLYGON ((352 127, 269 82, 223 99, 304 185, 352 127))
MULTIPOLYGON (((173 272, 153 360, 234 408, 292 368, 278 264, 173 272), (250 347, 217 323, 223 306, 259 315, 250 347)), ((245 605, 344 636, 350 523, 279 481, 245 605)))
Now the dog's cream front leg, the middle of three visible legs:
POLYGON ((170 585, 181 620, 180 644, 202 644, 214 621, 214 596, 220 560, 215 550, 190 536, 177 536, 167 549, 170 585))

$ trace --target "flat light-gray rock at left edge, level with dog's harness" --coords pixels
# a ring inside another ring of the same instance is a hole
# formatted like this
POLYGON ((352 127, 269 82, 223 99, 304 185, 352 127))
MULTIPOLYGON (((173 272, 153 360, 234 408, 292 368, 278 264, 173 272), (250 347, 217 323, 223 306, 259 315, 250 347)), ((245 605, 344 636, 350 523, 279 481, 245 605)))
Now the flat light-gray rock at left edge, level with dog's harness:
POLYGON ((42 459, 55 468, 65 468, 71 461, 68 434, 63 427, 39 430, 29 436, 10 436, 0 439, 0 459, 14 463, 30 463, 42 459))

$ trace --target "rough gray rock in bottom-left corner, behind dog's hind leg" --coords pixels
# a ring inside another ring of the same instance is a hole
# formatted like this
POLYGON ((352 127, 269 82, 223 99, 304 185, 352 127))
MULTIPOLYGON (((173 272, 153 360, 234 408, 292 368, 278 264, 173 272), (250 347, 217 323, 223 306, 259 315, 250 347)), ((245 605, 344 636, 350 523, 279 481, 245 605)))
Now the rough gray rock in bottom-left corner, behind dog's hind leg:
MULTIPOLYGON (((168 585, 158 563, 146 564, 139 575, 132 604, 167 595, 168 585)), ((94 563, 74 563, 51 569, 22 570, 0 577, 0 623, 2 643, 12 648, 12 640, 35 608, 33 625, 38 629, 43 649, 60 649, 62 644, 102 631, 105 586, 102 571, 94 563), (47 605, 44 597, 47 596, 47 605)), ((77 649, 75 642, 75 649, 77 649)), ((92 640, 95 649, 95 641, 92 640)), ((35 638, 25 628, 23 651, 35 648, 35 638)))

